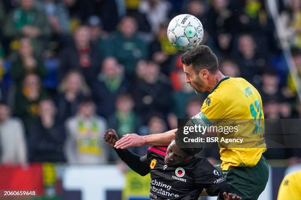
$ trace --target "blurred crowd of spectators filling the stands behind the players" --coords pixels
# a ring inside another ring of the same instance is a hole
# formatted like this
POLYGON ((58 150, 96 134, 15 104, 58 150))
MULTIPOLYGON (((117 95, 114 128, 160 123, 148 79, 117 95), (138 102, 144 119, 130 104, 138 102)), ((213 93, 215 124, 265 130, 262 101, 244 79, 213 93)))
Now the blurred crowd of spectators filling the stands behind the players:
MULTIPOLYGON (((115 162, 107 128, 161 133, 196 115, 208 94, 185 84, 182 52, 166 34, 182 13, 202 22, 221 72, 259 90, 265 118, 301 118, 279 43, 290 45, 301 77, 301 1, 275 1, 276 23, 265 0, 1 0, 1 164, 115 162)), ((266 157, 297 164, 301 150, 266 157)))

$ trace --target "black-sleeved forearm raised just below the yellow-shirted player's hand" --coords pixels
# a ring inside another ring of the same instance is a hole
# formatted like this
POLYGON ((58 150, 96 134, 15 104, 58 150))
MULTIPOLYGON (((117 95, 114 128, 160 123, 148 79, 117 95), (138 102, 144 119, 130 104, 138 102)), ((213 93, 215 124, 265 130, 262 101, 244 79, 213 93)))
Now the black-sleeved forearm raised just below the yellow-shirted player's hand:
POLYGON ((150 173, 150 166, 147 160, 142 159, 143 157, 140 157, 139 155, 136 155, 127 149, 115 149, 115 151, 121 160, 125 162, 125 164, 127 164, 134 172, 138 173, 139 175, 147 175, 150 173))

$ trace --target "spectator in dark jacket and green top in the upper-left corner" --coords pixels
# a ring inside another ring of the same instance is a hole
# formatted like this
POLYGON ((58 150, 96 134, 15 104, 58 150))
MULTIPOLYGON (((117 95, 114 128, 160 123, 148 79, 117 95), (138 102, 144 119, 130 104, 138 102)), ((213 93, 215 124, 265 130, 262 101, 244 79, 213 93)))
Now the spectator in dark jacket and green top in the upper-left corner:
POLYGON ((20 37, 29 37, 34 40, 38 53, 43 50, 42 39, 47 39, 51 34, 44 10, 37 8, 35 0, 20 0, 7 17, 3 33, 6 37, 15 40, 20 37))

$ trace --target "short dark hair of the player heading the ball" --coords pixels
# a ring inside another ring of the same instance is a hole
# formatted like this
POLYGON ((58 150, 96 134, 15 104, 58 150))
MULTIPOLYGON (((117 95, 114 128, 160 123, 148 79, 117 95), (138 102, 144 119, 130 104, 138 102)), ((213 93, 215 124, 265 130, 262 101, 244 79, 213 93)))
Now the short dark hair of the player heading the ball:
POLYGON ((211 74, 218 71, 217 57, 211 49, 205 45, 186 51, 181 56, 181 62, 184 65, 192 64, 197 75, 199 75, 199 72, 202 69, 208 70, 211 74))

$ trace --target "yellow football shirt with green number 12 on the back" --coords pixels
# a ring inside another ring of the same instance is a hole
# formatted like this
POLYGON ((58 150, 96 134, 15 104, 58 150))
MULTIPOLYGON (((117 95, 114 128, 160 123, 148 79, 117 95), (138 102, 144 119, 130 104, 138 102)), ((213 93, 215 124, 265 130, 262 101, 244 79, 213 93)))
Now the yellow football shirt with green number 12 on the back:
POLYGON ((241 146, 225 146, 219 140, 221 169, 252 167, 265 152, 264 114, 258 91, 243 78, 224 77, 211 90, 201 112, 193 117, 204 124, 225 126, 240 124, 238 132, 217 133, 218 138, 241 138, 241 146))

